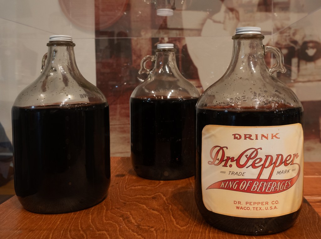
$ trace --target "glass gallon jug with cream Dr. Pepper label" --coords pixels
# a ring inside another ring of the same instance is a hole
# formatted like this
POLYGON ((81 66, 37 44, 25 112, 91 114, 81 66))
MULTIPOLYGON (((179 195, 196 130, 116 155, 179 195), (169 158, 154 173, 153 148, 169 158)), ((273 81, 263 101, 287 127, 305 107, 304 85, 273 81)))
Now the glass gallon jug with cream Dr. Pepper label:
POLYGON ((248 235, 289 228, 303 200, 303 108, 274 77, 283 55, 260 30, 237 28, 230 66, 196 106, 198 209, 212 226, 248 235))

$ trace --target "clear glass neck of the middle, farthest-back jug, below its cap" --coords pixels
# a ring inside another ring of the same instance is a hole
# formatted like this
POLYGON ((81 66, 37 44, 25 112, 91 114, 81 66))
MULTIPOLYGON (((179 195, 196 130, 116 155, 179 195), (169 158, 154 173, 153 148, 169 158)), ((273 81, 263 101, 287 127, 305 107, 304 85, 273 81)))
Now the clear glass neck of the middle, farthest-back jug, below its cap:
POLYGON ((180 74, 176 64, 175 49, 157 49, 155 52, 154 76, 180 74))

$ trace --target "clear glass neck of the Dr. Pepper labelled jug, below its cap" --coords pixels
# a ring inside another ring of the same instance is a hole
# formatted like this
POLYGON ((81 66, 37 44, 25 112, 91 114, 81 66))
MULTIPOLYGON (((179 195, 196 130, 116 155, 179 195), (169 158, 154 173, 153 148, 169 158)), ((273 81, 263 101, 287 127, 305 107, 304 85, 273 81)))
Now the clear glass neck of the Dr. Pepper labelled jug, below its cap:
POLYGON ((264 47, 260 34, 239 34, 232 37, 233 53, 227 73, 250 72, 260 74, 268 71, 264 60, 264 47))

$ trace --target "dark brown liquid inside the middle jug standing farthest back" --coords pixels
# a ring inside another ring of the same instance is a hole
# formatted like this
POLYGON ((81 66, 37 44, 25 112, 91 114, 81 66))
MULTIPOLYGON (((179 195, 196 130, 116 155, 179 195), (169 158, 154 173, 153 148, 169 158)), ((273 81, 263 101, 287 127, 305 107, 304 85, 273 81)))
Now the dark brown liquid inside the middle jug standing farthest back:
POLYGON ((137 175, 155 180, 194 175, 197 100, 130 99, 131 158, 137 175))

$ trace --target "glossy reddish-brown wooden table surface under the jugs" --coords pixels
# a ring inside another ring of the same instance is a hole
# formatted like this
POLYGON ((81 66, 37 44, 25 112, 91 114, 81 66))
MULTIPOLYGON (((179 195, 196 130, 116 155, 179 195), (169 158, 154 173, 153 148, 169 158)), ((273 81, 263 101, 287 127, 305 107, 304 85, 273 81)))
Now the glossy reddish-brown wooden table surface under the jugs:
POLYGON ((305 163, 305 200, 294 226, 266 236, 234 235, 209 226, 195 204, 194 177, 143 179, 127 157, 111 158, 111 172, 107 198, 90 209, 43 215, 23 209, 16 196, 5 201, 0 238, 321 238, 321 163, 305 163))

